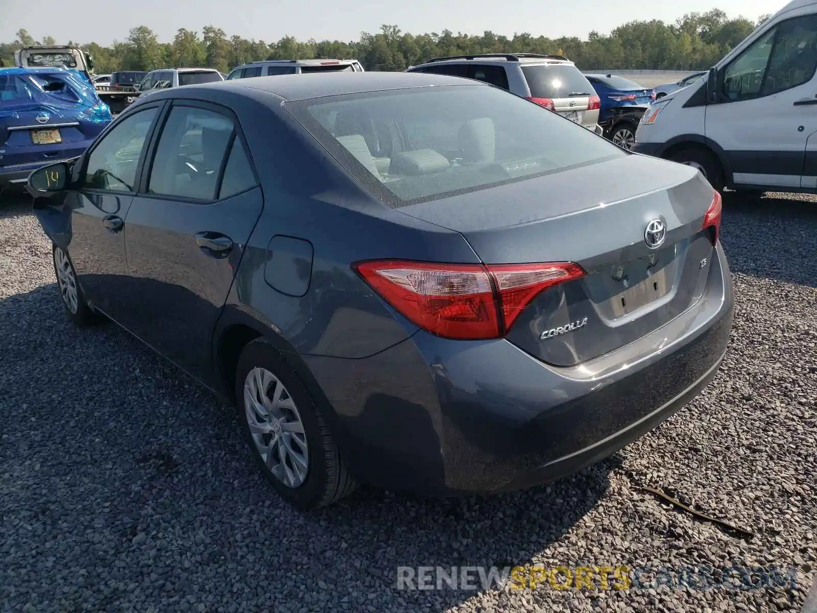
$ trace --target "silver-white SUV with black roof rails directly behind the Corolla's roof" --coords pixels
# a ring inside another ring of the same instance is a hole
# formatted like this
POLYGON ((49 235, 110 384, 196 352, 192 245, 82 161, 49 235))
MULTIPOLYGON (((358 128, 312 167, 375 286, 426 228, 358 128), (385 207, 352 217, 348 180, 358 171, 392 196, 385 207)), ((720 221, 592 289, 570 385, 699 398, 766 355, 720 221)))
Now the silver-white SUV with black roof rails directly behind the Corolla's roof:
POLYGON ((538 53, 483 53, 435 57, 406 72, 449 74, 502 87, 588 130, 601 134, 601 101, 587 78, 565 56, 538 53))

